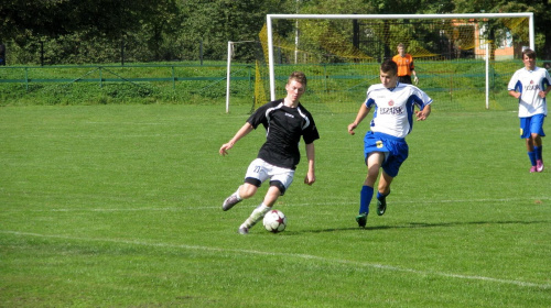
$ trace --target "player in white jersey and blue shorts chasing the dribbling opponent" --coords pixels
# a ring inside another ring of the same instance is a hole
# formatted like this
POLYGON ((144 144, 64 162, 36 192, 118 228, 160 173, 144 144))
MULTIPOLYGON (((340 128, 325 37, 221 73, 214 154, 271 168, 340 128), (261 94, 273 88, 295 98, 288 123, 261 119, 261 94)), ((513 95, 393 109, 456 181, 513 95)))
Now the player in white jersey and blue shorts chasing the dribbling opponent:
POLYGON ((413 128, 413 114, 418 121, 424 121, 431 114, 432 99, 418 87, 399 82, 398 65, 393 61, 388 59, 381 64, 380 81, 381 84, 368 88, 366 100, 354 122, 348 125, 348 133, 354 135, 354 130, 375 109, 370 130, 364 138, 367 177, 360 190, 359 215, 356 217, 361 228, 367 223, 369 204, 380 169, 377 215, 382 216, 387 211, 386 198, 390 194, 390 184, 408 158, 406 136, 413 128), (419 110, 415 110, 415 106, 419 110))

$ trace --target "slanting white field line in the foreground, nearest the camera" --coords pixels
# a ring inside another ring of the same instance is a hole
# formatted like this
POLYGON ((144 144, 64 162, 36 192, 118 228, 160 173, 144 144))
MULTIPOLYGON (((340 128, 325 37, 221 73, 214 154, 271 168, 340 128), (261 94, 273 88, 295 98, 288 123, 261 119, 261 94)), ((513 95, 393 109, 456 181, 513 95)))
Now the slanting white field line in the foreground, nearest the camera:
POLYGON ((65 235, 39 234, 39 233, 18 232, 18 231, 8 231, 8 230, 0 230, 0 233, 13 234, 13 235, 19 235, 19 237, 63 239, 63 240, 71 240, 71 241, 111 242, 111 243, 141 245, 141 246, 156 246, 156 248, 171 248, 171 249, 198 250, 198 251, 216 251, 216 252, 226 252, 226 253, 230 252, 230 253, 237 253, 237 254, 284 256, 284 257, 291 257, 291 258, 313 260, 313 261, 327 262, 327 263, 338 263, 338 264, 344 264, 344 265, 370 267, 370 268, 377 268, 377 270, 390 271, 390 272, 411 273, 411 274, 417 274, 417 275, 422 275, 422 276, 441 276, 441 277, 447 277, 447 278, 457 278, 457 279, 466 279, 466 280, 480 280, 480 282, 516 285, 516 286, 520 286, 520 287, 534 287, 534 288, 540 288, 540 289, 551 289, 551 284, 537 284, 537 283, 522 282, 522 280, 499 279, 499 278, 485 277, 485 276, 462 275, 462 274, 434 272, 434 271, 419 271, 419 270, 404 268, 404 267, 377 264, 377 263, 357 262, 357 261, 343 260, 343 258, 328 258, 328 257, 316 256, 316 255, 311 255, 311 254, 266 252, 266 251, 256 251, 256 250, 225 249, 225 248, 185 245, 185 244, 177 245, 177 244, 168 244, 168 243, 148 243, 148 242, 140 242, 140 241, 125 241, 125 240, 114 240, 114 239, 74 238, 74 237, 65 237, 65 235))

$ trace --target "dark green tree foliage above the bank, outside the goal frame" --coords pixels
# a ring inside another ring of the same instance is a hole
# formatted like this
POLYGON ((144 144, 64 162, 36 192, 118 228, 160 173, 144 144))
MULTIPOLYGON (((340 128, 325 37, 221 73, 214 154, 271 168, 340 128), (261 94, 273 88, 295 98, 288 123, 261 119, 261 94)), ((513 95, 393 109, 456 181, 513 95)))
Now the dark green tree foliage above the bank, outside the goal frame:
MULTIPOLYGON (((268 13, 534 12, 539 57, 551 58, 550 1, 526 0, 2 0, 0 41, 12 59, 46 64, 223 59, 228 41, 256 41, 268 13), (45 50, 39 51, 39 48, 45 50), (17 52, 17 53, 14 53, 17 52), (14 54, 18 56, 15 57, 14 54)), ((239 57, 252 58, 240 48, 239 57)))

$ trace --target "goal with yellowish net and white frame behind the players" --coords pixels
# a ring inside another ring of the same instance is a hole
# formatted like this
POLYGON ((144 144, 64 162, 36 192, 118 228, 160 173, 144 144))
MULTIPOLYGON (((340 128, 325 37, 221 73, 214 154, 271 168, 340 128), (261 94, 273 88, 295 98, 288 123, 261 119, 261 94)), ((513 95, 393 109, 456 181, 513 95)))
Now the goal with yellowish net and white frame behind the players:
POLYGON ((259 34, 255 101, 285 96, 293 70, 309 78, 309 109, 356 112, 379 65, 402 43, 435 110, 511 109, 507 82, 533 48, 532 13, 434 15, 269 14, 259 34))

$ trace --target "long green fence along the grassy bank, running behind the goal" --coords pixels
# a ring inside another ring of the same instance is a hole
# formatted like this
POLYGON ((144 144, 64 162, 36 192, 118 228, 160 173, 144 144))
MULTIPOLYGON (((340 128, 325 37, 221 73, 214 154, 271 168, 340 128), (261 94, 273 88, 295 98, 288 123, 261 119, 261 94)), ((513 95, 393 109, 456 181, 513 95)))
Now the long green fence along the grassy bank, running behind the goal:
MULTIPOLYGON (((541 63, 543 65, 543 63, 541 63)), ((277 96, 284 96, 284 82, 292 70, 309 77, 310 109, 354 112, 365 99, 367 87, 380 82, 377 63, 309 64, 276 67, 277 96)), ((507 96, 507 82, 522 67, 519 61, 491 62, 489 69, 490 109, 515 110, 507 96)), ((419 87, 440 110, 485 110, 486 68, 484 61, 415 62, 419 87)), ((267 69, 262 69, 264 92, 267 69)), ((0 67, 0 105, 32 103, 47 98, 56 103, 173 102, 224 105, 227 65, 158 64, 95 66, 6 66, 0 67)), ((230 105, 255 101, 256 67, 233 64, 230 105)), ((258 95, 258 90, 257 90, 258 95)), ((269 96, 266 96, 269 98, 269 96)))

